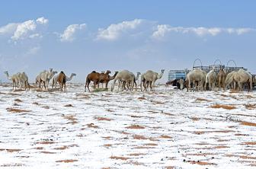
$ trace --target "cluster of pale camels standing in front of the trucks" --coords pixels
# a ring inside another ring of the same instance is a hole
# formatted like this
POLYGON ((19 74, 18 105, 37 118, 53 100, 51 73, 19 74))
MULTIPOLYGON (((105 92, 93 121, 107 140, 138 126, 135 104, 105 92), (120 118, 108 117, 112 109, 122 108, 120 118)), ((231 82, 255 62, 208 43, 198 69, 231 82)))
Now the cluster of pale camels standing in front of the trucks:
POLYGON ((251 73, 246 72, 244 69, 239 69, 238 71, 226 72, 224 69, 220 69, 218 73, 214 69, 206 73, 200 69, 194 69, 187 74, 185 85, 187 86, 187 91, 206 91, 206 87, 209 90, 214 90, 214 88, 226 89, 237 89, 242 91, 243 85, 248 85, 248 90, 252 90, 253 76, 251 73))

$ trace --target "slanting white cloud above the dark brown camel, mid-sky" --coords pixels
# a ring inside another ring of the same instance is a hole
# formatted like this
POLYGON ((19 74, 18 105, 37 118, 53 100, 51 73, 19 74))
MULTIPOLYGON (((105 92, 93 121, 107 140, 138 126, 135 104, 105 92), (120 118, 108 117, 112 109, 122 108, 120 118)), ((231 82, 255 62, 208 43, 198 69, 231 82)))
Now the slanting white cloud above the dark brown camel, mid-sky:
POLYGON ((117 40, 123 33, 136 30, 143 22, 141 19, 135 19, 133 21, 123 21, 119 24, 110 24, 107 29, 98 30, 97 40, 117 40))

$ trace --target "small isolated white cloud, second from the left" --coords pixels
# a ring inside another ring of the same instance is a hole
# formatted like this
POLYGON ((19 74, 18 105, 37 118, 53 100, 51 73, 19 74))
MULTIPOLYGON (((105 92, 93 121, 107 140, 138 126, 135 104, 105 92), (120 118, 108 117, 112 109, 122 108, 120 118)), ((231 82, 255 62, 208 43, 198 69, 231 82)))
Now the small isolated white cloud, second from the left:
POLYGON ((71 24, 66 27, 66 30, 59 36, 62 42, 72 42, 75 40, 75 34, 79 30, 85 30, 86 24, 71 24))

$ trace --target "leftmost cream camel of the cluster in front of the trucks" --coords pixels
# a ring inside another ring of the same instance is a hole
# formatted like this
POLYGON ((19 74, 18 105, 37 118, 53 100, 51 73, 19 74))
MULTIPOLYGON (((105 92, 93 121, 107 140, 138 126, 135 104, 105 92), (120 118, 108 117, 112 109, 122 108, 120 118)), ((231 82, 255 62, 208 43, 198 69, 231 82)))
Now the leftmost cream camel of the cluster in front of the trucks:
POLYGON ((203 91, 203 84, 205 82, 206 73, 202 70, 195 69, 187 73, 186 81, 187 81, 187 91, 190 89, 191 91, 191 83, 193 84, 193 90, 197 88, 197 83, 200 85, 200 90, 203 91))

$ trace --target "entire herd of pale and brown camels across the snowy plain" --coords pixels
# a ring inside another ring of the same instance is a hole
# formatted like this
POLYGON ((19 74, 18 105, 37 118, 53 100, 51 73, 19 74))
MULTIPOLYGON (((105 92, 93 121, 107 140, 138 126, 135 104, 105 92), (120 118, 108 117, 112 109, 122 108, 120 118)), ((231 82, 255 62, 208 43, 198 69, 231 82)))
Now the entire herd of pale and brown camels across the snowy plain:
MULTIPOLYGON (((147 88, 150 88, 151 91, 155 90, 155 81, 162 78, 165 70, 162 69, 161 73, 153 72, 148 70, 145 73, 137 72, 136 75, 133 72, 128 70, 123 70, 120 72, 115 72, 114 75, 110 75, 110 71, 106 72, 96 72, 93 71, 89 73, 85 79, 85 91, 90 91, 89 85, 91 81, 93 82, 93 88, 100 88, 100 83, 105 84, 105 89, 109 81, 113 80, 111 85, 111 91, 114 90, 114 87, 117 82, 118 91, 133 91, 137 89, 137 81, 139 80, 139 75, 141 75, 140 88, 141 91, 147 91, 147 88)), ((18 72, 14 75, 9 75, 8 72, 5 72, 7 78, 12 81, 13 90, 16 88, 21 88, 24 90, 29 90, 30 85, 28 83, 28 78, 25 72, 18 72)), ((59 72, 57 74, 53 69, 44 70, 40 72, 35 80, 35 87, 38 90, 43 90, 43 88, 48 91, 48 85, 50 80, 52 80, 52 88, 56 88, 59 84, 59 88, 62 91, 66 91, 66 82, 71 81, 75 76, 75 73, 72 73, 69 77, 65 75, 64 72, 59 72), (43 87, 41 86, 43 85, 43 87)), ((216 72, 215 69, 212 69, 210 72, 206 73, 200 69, 194 69, 187 73, 185 81, 180 79, 179 84, 181 89, 187 88, 187 91, 206 91, 206 89, 213 91, 216 87, 222 88, 223 90, 237 89, 242 91, 243 85, 248 85, 248 89, 252 90, 253 76, 246 72, 244 69, 239 69, 238 71, 226 72, 224 69, 220 69, 219 72, 216 72)))

